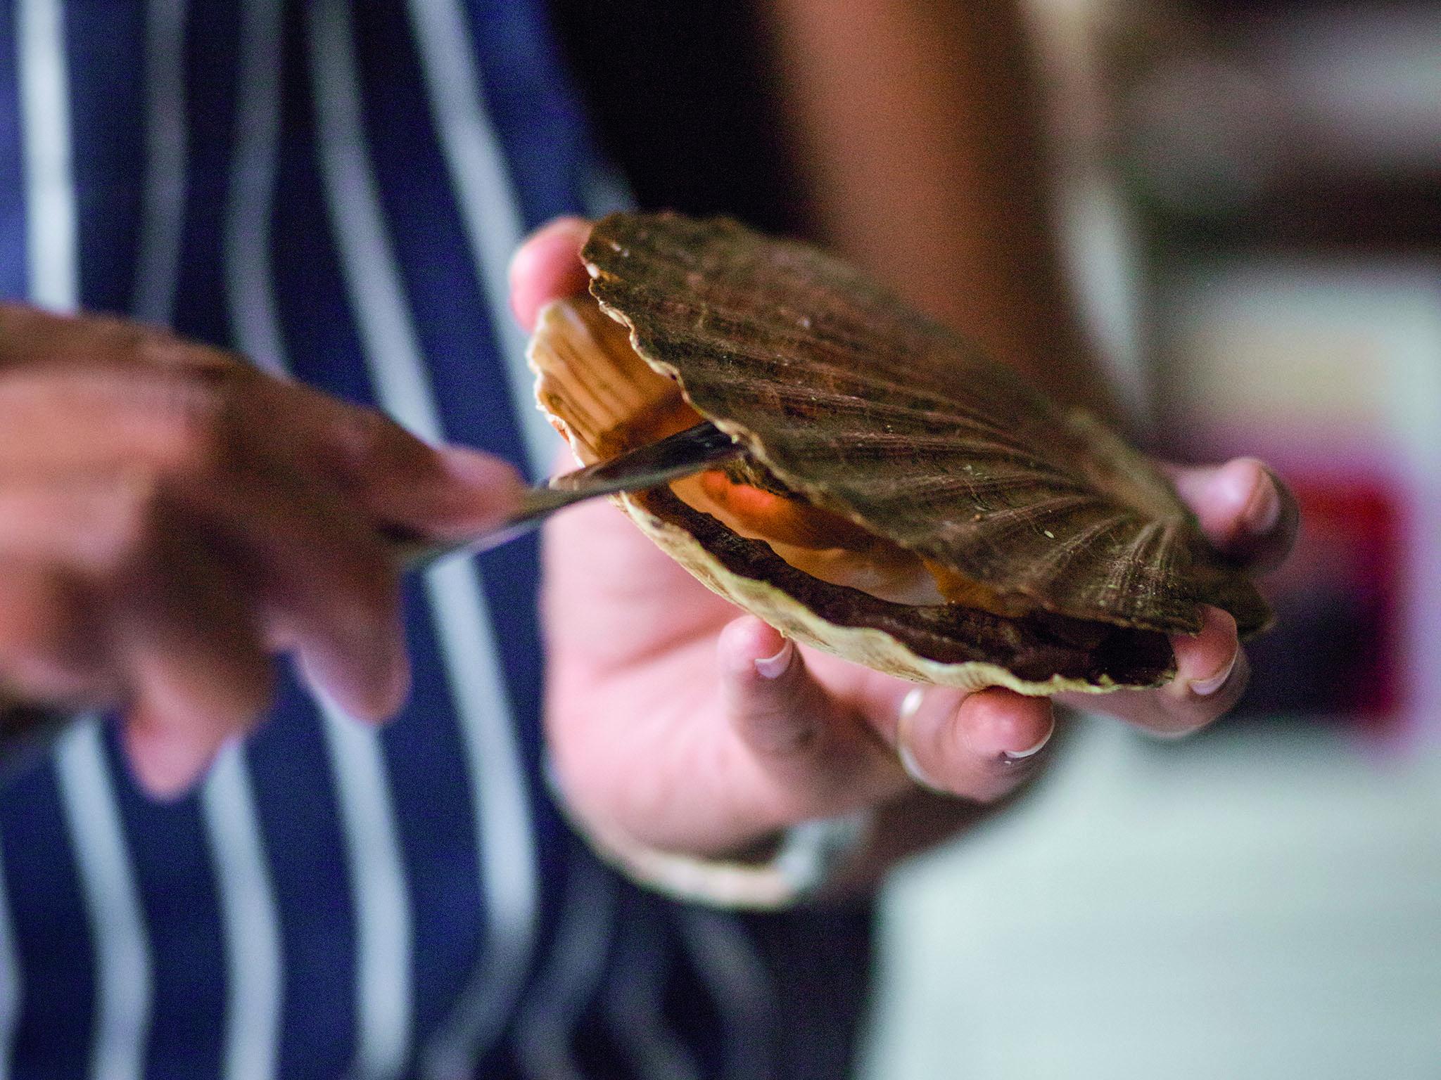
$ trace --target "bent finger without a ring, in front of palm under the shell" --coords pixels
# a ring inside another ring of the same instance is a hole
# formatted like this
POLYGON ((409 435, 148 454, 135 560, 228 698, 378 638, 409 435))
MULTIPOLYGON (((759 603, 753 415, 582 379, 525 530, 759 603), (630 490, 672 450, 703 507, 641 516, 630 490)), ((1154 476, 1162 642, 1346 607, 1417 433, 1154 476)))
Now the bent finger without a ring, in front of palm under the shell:
POLYGON ((775 824, 869 806, 905 789, 895 755, 816 683, 797 648, 755 618, 718 641, 731 730, 765 773, 775 824))

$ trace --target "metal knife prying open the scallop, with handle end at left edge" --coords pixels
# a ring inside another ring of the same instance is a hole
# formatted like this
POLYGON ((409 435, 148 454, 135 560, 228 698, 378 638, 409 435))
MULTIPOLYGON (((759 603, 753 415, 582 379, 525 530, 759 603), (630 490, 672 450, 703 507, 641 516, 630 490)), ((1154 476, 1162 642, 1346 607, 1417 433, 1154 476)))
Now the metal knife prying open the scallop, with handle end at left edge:
MULTIPOLYGON (((697 423, 683 432, 647 444, 618 458, 586 465, 533 487, 500 523, 458 541, 435 544, 416 537, 392 537, 405 570, 425 570, 442 559, 477 554, 536 528, 558 510, 598 495, 644 491, 689 477, 731 458, 745 448, 713 423, 697 423)), ((9 779, 49 749, 78 720, 94 710, 6 701, 0 691, 0 780, 9 779)))

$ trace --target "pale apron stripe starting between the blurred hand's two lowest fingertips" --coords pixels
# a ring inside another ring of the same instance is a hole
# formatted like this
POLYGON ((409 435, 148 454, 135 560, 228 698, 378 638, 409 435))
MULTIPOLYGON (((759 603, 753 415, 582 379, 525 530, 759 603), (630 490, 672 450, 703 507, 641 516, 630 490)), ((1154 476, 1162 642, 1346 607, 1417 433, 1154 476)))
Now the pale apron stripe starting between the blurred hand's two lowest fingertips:
POLYGON ((239 744, 228 746, 200 788, 225 933, 225 1080, 275 1076, 280 1050, 280 920, 261 842, 255 793, 239 744))

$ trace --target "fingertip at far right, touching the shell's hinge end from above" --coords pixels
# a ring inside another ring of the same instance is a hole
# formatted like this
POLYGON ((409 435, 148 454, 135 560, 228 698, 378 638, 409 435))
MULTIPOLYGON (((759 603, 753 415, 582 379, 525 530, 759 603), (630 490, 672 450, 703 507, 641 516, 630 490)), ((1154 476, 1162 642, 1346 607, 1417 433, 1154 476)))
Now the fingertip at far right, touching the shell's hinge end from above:
POLYGON ((1278 566, 1295 541, 1300 511, 1284 482, 1255 458, 1169 467, 1176 491, 1206 539, 1257 572, 1278 566))

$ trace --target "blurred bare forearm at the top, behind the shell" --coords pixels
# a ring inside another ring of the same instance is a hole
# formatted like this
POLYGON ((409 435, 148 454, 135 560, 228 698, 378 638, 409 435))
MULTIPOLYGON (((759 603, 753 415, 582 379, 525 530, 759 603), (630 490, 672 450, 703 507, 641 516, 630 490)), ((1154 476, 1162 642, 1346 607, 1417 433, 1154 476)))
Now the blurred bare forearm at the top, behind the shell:
POLYGON ((821 238, 1046 392, 1110 410, 1061 268, 1017 6, 769 10, 821 238))

